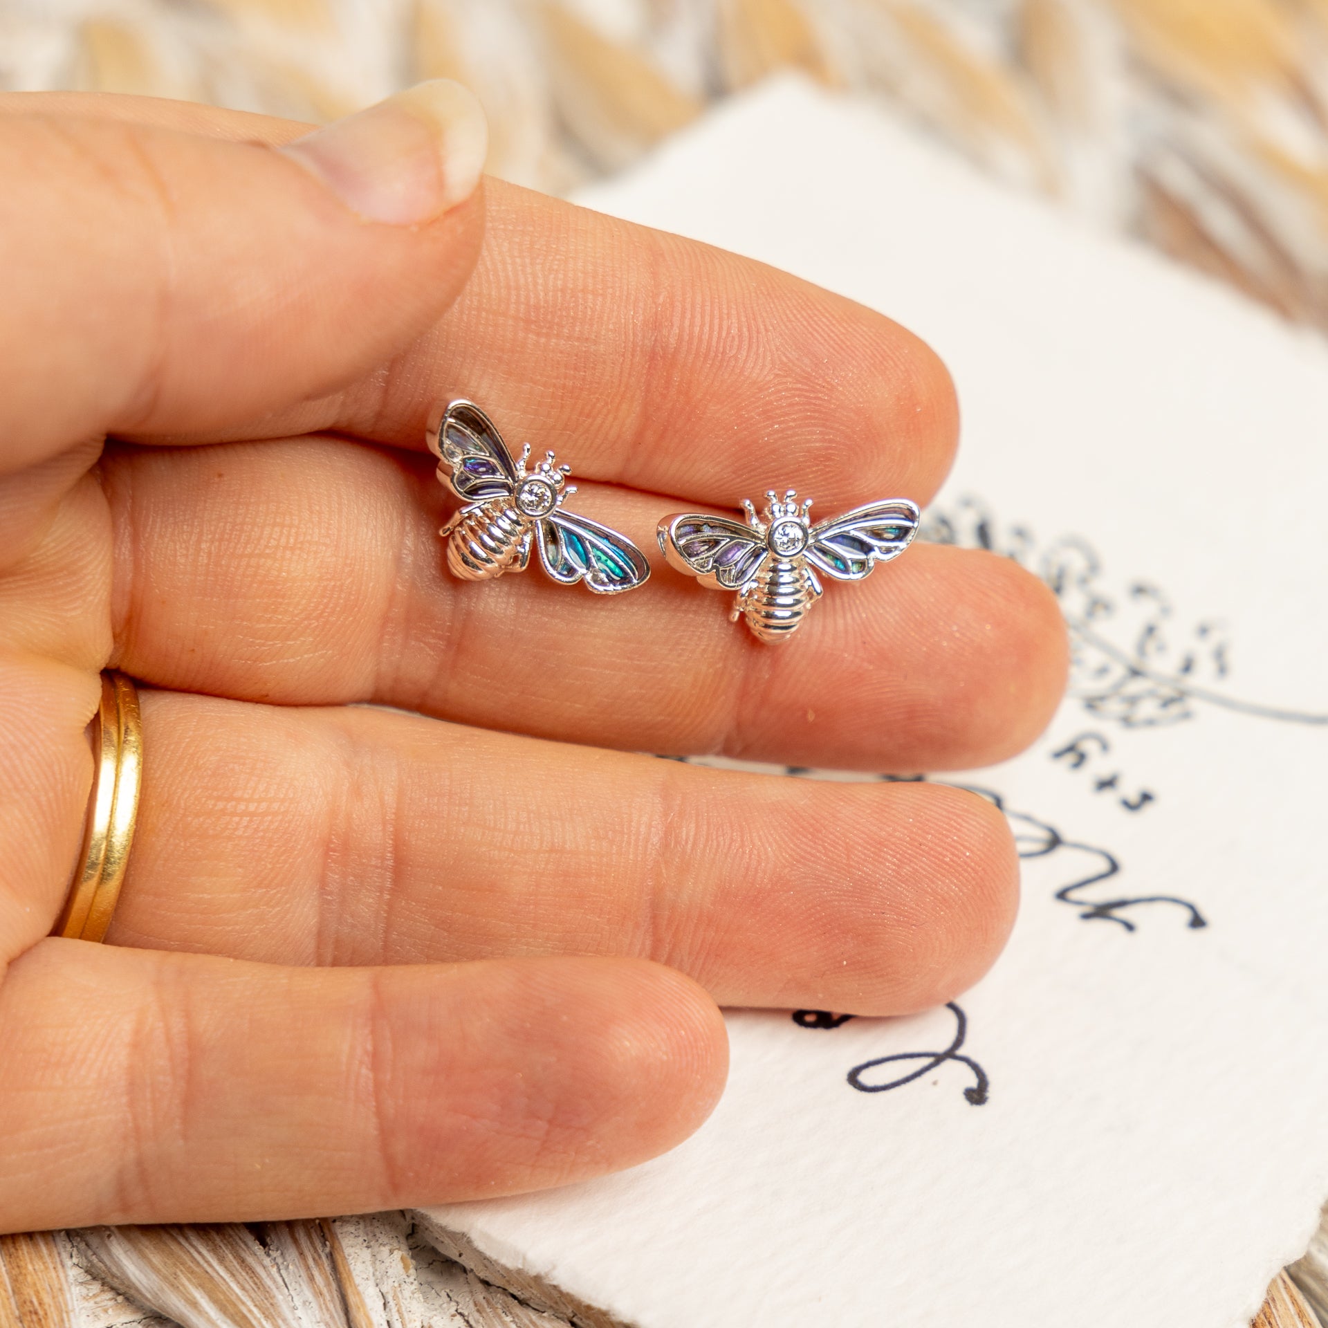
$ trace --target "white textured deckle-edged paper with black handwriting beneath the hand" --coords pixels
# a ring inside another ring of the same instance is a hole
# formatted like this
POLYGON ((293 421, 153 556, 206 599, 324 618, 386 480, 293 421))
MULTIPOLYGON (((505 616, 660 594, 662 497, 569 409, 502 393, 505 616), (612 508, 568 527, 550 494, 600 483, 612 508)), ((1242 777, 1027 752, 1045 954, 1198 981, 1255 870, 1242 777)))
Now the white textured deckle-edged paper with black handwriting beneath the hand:
POLYGON ((801 84, 584 201, 927 337, 964 412, 934 534, 1058 578, 1074 688, 946 777, 1025 854, 957 1009, 733 1013, 681 1147, 437 1215, 641 1328, 1247 1323, 1328 1193, 1328 349, 801 84), (891 1056, 858 1084, 923 1073, 853 1086, 891 1056))

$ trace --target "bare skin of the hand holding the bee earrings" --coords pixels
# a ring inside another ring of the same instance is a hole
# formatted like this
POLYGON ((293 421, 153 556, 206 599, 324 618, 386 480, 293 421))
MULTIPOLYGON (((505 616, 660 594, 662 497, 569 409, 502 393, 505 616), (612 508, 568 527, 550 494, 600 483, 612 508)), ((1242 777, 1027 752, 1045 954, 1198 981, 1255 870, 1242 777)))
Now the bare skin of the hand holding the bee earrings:
POLYGON ((303 131, 0 97, 0 1230, 631 1166, 714 1105, 716 1003, 915 1011, 1012 924, 979 798, 632 753, 997 761, 1064 684, 1037 580, 915 546, 777 648, 657 558, 611 600, 463 584, 422 449, 470 396, 653 554, 663 514, 768 487, 926 502, 957 436, 935 355, 491 181, 367 223, 262 146, 303 131), (108 665, 142 681, 147 764, 90 946, 46 934, 108 665))

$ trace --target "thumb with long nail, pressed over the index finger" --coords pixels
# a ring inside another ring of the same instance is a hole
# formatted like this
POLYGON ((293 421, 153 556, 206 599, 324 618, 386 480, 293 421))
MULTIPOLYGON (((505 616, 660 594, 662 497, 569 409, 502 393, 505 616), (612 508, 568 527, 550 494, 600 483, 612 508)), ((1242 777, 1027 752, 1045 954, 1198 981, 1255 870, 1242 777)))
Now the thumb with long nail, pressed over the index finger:
POLYGON ((381 364, 470 275, 485 151, 446 80, 279 149, 0 114, 0 473, 226 429, 381 364))

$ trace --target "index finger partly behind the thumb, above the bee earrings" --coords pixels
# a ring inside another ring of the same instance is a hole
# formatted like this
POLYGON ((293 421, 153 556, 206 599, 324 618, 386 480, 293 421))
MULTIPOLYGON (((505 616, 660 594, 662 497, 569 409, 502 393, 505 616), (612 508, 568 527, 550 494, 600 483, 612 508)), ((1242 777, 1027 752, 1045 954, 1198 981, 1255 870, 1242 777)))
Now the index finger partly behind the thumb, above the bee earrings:
MULTIPOLYGON (((96 110, 271 141, 303 131, 143 98, 96 110)), ((899 324, 761 263, 527 190, 490 182, 486 199, 474 278, 426 336, 246 436, 325 429, 420 449, 433 402, 466 396, 579 475, 725 506, 790 485, 827 510, 926 502, 944 478, 954 386, 899 324)))

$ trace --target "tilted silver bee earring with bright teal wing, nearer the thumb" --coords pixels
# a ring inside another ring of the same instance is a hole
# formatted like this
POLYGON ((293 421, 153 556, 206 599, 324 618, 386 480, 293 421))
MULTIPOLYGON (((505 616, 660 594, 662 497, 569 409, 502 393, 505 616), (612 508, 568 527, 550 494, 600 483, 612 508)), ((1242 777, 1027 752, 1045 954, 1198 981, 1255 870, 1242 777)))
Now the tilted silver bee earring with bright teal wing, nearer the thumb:
POLYGON ((530 444, 513 461, 493 421, 470 401, 453 401, 429 421, 429 450, 438 481, 465 506, 438 531, 448 540, 448 567, 461 580, 523 572, 539 546, 544 571, 563 586, 584 580, 598 595, 635 590, 651 574, 645 555, 625 535, 563 511, 576 493, 568 467, 554 454, 526 469, 530 444))

